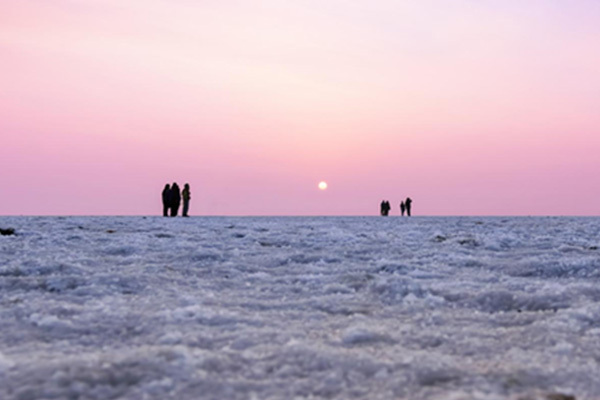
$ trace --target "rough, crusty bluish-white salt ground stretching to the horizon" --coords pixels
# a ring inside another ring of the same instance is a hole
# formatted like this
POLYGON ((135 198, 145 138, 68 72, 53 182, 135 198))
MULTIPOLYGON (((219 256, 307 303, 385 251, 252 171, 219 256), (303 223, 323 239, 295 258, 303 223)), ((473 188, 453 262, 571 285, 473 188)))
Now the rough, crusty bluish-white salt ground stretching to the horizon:
POLYGON ((600 218, 0 227, 1 399, 600 398, 600 218))

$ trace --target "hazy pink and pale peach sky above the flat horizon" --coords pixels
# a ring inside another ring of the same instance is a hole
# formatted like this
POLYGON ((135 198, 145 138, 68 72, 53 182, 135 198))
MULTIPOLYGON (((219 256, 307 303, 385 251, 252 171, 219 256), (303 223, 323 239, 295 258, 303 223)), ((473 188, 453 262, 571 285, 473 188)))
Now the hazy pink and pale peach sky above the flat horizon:
POLYGON ((599 71, 595 0, 0 0, 0 215, 600 215, 599 71))

